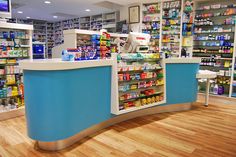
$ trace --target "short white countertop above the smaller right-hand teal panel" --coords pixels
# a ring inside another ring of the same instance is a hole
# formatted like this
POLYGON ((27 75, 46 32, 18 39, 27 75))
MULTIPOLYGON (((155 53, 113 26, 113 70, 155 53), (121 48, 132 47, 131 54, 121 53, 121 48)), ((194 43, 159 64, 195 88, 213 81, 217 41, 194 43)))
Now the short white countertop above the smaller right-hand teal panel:
POLYGON ((164 59, 164 62, 167 64, 171 64, 171 63, 193 64, 193 63, 201 63, 201 59, 200 58, 168 58, 168 59, 164 59))

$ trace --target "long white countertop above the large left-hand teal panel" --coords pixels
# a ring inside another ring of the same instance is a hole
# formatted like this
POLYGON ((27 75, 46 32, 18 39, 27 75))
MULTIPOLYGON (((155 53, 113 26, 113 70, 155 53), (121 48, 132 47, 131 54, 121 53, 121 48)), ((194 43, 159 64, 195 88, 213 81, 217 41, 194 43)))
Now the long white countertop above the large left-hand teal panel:
POLYGON ((89 60, 89 61, 62 61, 61 59, 37 59, 20 61, 23 70, 72 70, 81 68, 92 68, 112 66, 112 59, 89 60))

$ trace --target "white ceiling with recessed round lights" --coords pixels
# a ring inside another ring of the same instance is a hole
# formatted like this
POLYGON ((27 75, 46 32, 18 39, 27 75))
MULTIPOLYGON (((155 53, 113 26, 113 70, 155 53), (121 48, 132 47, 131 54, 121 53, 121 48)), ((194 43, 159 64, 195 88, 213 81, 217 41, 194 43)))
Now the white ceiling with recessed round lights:
MULTIPOLYGON (((12 0, 12 16, 13 18, 26 19, 27 16, 31 19, 40 19, 47 21, 59 21, 63 19, 95 15, 104 12, 110 12, 115 9, 107 9, 96 6, 95 3, 104 2, 104 0, 49 0, 51 4, 45 4, 44 0, 12 0), (86 12, 85 9, 90 9, 86 12), (18 14, 17 11, 23 11, 23 14, 18 14), (58 16, 54 19, 56 13, 69 14, 69 17, 58 16)), ((119 5, 128 5, 139 2, 139 0, 108 0, 119 5)))

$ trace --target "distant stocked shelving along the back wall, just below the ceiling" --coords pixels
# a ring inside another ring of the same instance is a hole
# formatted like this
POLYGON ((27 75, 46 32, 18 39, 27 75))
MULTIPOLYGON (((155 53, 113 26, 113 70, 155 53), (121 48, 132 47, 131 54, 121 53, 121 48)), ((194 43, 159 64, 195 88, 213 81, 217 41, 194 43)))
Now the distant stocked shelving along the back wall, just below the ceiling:
POLYGON ((51 57, 52 48, 63 44, 63 30, 84 29, 98 31, 102 28, 108 32, 116 32, 116 22, 119 21, 119 12, 110 12, 69 20, 47 22, 42 20, 10 19, 11 23, 34 25, 33 40, 46 43, 46 57, 51 57))

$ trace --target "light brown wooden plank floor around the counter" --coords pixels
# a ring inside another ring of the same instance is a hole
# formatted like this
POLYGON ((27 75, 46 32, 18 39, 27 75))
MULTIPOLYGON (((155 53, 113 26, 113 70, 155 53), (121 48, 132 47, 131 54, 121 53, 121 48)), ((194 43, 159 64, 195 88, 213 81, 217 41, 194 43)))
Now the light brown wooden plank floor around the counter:
MULTIPOLYGON (((200 100, 202 98, 200 97, 200 100)), ((222 100, 222 99, 219 99, 222 100)), ((25 118, 0 122, 3 157, 236 157, 236 99, 191 111, 156 114, 122 122, 49 153, 34 149, 25 118)))

